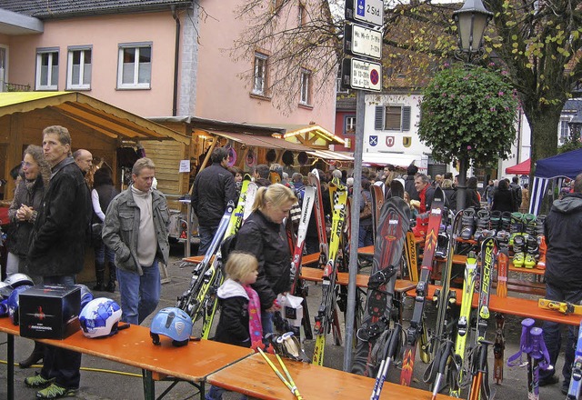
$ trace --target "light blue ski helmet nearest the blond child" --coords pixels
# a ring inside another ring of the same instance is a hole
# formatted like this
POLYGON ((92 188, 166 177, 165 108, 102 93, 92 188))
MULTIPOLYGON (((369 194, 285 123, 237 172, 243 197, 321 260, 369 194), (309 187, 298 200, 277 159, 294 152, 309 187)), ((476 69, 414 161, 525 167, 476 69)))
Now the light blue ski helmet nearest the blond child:
POLYGON ((171 338, 172 345, 176 347, 187 345, 192 335, 192 319, 180 308, 162 308, 152 320, 149 335, 152 336, 154 345, 160 344, 159 335, 171 338))

